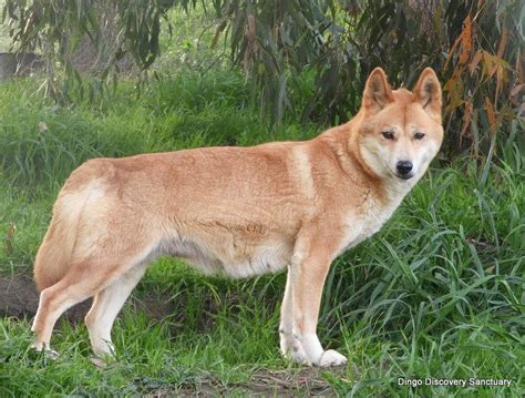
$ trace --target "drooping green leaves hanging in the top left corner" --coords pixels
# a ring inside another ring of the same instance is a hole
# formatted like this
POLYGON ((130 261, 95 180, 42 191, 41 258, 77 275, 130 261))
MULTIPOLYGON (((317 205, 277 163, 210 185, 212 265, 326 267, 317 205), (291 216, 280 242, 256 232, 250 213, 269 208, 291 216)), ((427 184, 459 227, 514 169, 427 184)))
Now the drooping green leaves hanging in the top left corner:
MULTIPOLYGON (((150 68, 159 52, 161 19, 169 8, 187 9, 191 3, 195 1, 7 0, 2 19, 8 20, 17 50, 44 55, 47 94, 71 103, 85 94, 91 101, 105 95, 116 84, 119 61, 126 54, 140 71, 150 68), (94 80, 83 80, 72 60, 86 39, 95 49, 92 55, 103 59, 94 80)), ((138 85, 145 78, 140 76, 138 85)))

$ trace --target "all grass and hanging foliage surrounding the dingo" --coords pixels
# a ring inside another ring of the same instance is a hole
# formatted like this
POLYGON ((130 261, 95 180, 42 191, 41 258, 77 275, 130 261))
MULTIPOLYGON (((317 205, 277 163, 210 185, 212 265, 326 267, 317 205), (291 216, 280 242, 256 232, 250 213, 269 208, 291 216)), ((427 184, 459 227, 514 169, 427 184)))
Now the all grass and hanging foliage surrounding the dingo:
POLYGON ((104 370, 83 326, 61 323, 50 361, 29 349, 30 319, 2 318, 2 396, 523 396, 522 2, 4 3, 3 32, 44 68, 0 83, 3 275, 31 272, 55 195, 86 159, 307 140, 350 118, 375 65, 395 86, 439 72, 447 143, 385 228, 332 266, 319 334, 346 369, 305 378, 280 358, 282 274, 215 279, 164 258, 133 297, 164 297, 173 316, 127 306, 104 370), (513 384, 411 389, 399 377, 513 384))

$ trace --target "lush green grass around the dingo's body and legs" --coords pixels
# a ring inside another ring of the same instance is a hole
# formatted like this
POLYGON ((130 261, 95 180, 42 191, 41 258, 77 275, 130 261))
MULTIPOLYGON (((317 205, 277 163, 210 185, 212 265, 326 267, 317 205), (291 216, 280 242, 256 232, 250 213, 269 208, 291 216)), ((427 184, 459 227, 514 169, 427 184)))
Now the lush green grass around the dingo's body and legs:
MULTIPOLYGON (((288 120, 276 131, 249 106, 231 71, 184 72, 136 99, 124 84, 112 103, 58 108, 0 85, 0 273, 30 273, 65 177, 94 156, 203 145, 303 140, 322 129, 288 120), (40 125, 40 129, 39 129, 40 125), (45 125, 45 126, 44 126, 45 125), (44 127, 43 127, 44 126, 44 127), (17 229, 6 241, 10 223, 17 229), (9 247, 8 247, 9 246, 9 247)), ((328 276, 319 335, 349 356, 318 378, 350 396, 525 394, 523 142, 517 125, 490 163, 459 159, 434 169, 373 238, 339 257, 328 276), (356 370, 357 367, 357 370, 356 370), (398 386, 398 378, 507 378, 511 388, 398 386)), ((215 391, 249 395, 254 371, 301 368, 278 353, 285 275, 244 280, 200 276, 161 259, 134 299, 172 297, 164 320, 127 306, 116 322, 117 361, 90 361, 85 327, 61 322, 52 361, 28 347, 30 319, 0 319, 0 395, 133 396, 215 391)), ((297 376, 298 377, 298 376, 297 376)), ((268 388, 272 388, 271 384, 268 388)), ((296 390, 308 395, 308 387, 296 390)))

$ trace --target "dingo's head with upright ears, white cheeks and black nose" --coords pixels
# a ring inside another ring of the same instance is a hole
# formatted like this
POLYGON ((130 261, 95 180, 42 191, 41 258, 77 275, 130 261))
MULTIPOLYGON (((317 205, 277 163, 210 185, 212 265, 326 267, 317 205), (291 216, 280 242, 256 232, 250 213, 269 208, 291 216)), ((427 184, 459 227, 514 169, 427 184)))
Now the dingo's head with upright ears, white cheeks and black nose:
POLYGON ((426 171, 443 141, 441 84, 426 68, 410 92, 391 90, 381 68, 364 86, 358 150, 381 178, 413 185, 426 171))

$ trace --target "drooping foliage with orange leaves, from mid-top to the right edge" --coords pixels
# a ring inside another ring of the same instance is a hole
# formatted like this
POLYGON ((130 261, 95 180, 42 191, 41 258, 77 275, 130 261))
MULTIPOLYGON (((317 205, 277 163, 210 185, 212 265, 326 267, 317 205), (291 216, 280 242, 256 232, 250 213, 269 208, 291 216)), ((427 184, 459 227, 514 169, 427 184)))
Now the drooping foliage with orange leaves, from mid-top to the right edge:
POLYGON ((521 1, 217 3, 222 18, 231 20, 234 64, 244 67, 274 121, 296 108, 292 93, 303 69, 315 70, 315 93, 302 120, 333 124, 357 112, 373 68, 384 68, 394 86, 411 88, 430 65, 444 84, 449 149, 486 155, 491 135, 480 136, 480 124, 493 133, 516 118, 523 125, 521 1))

